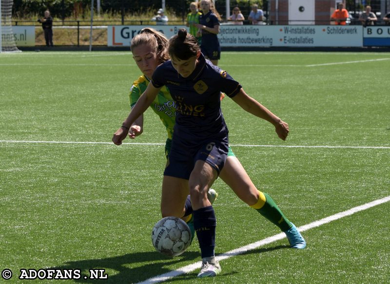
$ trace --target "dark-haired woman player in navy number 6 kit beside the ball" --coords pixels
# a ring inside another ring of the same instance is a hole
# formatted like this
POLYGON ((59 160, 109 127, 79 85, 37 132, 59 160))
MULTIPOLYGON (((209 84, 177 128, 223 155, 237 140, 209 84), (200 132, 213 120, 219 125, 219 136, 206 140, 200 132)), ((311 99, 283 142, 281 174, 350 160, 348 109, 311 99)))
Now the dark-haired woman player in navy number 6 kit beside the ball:
MULTIPOLYGON (((207 191, 222 169, 228 151, 228 130, 220 110, 219 92, 225 92, 248 112, 273 123, 283 140, 287 137, 288 125, 246 95, 226 72, 206 61, 196 39, 187 35, 185 29, 171 38, 168 52, 172 60, 156 68, 152 84, 138 99, 123 128, 130 128, 163 85, 169 87, 176 100, 176 124, 169 164, 164 171, 161 209, 165 216, 181 217, 190 189, 203 261, 198 276, 215 276, 221 268, 214 258, 216 221, 207 191)), ((113 141, 119 145, 127 132, 116 134, 113 141)), ((264 202, 259 198, 258 204, 264 202)), ((299 234, 296 228, 295 231, 299 234)))

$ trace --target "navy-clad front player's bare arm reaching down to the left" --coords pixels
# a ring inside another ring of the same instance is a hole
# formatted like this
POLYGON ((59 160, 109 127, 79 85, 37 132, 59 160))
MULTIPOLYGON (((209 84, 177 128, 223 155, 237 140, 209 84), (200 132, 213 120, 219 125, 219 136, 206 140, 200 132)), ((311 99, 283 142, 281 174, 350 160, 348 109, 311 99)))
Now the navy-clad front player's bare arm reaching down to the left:
POLYGON ((122 126, 114 133, 112 141, 115 145, 122 144, 122 141, 126 138, 127 133, 130 131, 130 127, 136 122, 137 118, 143 114, 146 109, 150 106, 153 100, 156 98, 158 91, 161 88, 155 88, 153 84, 149 84, 145 92, 139 97, 136 105, 131 110, 122 126))

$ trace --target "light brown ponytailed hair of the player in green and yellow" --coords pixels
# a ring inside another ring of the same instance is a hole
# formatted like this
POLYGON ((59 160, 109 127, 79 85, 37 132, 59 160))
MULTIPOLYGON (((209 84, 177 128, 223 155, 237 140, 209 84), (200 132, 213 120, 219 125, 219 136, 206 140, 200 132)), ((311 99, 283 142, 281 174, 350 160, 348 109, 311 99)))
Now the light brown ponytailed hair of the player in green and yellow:
POLYGON ((157 32, 152 28, 143 28, 140 33, 135 36, 130 44, 130 49, 133 49, 141 44, 148 44, 156 48, 157 58, 160 63, 169 60, 167 45, 168 39, 164 34, 157 32))

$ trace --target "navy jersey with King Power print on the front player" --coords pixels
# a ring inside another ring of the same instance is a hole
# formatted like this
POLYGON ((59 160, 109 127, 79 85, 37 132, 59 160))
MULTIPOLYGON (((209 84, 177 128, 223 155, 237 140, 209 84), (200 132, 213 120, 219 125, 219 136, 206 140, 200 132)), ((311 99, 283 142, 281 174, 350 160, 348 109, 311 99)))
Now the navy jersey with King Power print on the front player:
POLYGON ((189 141, 203 141, 227 135, 227 127, 220 108, 220 92, 233 97, 241 85, 229 74, 205 60, 202 54, 194 72, 187 78, 180 76, 171 60, 156 68, 152 84, 166 86, 176 101, 175 135, 189 141))

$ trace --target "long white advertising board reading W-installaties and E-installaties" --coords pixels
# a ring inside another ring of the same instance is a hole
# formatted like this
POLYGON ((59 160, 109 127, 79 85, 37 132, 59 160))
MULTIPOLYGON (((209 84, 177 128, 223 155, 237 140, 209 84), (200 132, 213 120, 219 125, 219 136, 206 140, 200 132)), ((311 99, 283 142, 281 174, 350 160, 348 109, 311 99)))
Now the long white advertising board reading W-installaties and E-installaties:
MULTIPOLYGON (((108 26, 108 46, 130 46, 145 26, 108 26)), ((152 26, 170 38, 185 26, 152 26)), ((362 47, 362 26, 330 25, 221 25, 218 39, 222 47, 362 47)))

